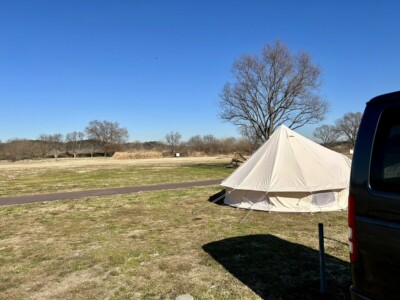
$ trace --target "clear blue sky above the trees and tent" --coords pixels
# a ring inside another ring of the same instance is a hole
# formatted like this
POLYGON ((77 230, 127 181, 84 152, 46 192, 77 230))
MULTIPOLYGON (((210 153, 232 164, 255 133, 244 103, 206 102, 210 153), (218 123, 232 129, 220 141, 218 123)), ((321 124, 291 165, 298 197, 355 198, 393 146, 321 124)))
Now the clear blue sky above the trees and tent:
POLYGON ((235 59, 277 38, 323 68, 333 123, 400 89, 399 20, 395 0, 0 0, 0 139, 94 119, 130 140, 238 136, 219 94, 235 59))

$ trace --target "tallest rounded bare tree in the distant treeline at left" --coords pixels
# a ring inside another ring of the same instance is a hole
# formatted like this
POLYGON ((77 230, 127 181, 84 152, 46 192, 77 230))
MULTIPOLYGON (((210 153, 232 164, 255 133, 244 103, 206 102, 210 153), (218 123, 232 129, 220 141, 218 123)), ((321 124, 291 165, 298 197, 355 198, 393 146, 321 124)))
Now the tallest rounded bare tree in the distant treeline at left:
POLYGON ((108 150, 115 148, 116 144, 123 144, 127 141, 129 134, 126 128, 121 128, 118 122, 90 121, 85 129, 87 136, 98 142, 107 156, 108 150))

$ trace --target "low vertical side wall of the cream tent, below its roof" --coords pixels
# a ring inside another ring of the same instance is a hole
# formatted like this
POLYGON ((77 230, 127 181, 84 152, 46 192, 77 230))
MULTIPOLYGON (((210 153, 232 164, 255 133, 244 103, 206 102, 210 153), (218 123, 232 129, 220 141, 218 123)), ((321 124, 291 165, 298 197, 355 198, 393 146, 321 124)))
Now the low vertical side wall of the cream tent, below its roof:
POLYGON ((225 204, 274 212, 322 212, 347 209, 348 188, 315 193, 266 193, 226 189, 225 204))

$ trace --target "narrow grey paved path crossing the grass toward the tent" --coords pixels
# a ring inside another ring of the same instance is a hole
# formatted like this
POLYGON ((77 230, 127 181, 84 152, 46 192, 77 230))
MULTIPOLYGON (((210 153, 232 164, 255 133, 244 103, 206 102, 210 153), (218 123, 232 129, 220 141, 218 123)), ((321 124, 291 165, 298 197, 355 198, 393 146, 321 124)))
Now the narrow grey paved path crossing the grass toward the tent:
POLYGON ((222 179, 212 179, 203 181, 119 187, 119 188, 97 189, 97 190, 77 191, 77 192, 62 192, 62 193, 27 195, 27 196, 17 196, 17 197, 3 197, 0 198, 0 206, 45 202, 54 200, 65 200, 65 199, 79 199, 79 198, 95 197, 95 196, 110 196, 110 195, 129 194, 129 193, 147 192, 147 191, 174 190, 174 189, 182 189, 195 186, 216 185, 220 184, 221 181, 222 179))

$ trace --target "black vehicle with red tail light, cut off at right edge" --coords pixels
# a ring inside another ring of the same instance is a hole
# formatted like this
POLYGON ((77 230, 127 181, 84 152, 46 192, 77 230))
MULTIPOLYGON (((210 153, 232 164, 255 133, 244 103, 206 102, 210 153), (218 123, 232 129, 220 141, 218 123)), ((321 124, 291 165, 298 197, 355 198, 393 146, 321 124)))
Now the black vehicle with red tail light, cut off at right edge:
POLYGON ((348 214, 352 299, 400 299, 400 92, 367 103, 348 214))

